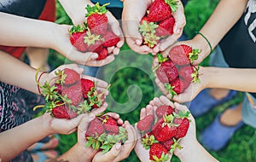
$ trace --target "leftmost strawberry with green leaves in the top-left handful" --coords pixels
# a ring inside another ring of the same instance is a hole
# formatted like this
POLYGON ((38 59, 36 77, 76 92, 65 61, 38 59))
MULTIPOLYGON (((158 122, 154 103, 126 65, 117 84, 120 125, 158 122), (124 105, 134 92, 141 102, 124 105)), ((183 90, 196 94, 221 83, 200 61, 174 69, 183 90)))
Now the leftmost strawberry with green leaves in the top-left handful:
POLYGON ((86 47, 84 45, 84 35, 85 35, 85 28, 82 26, 72 26, 69 30, 70 33, 70 43, 81 52, 86 51, 86 47))

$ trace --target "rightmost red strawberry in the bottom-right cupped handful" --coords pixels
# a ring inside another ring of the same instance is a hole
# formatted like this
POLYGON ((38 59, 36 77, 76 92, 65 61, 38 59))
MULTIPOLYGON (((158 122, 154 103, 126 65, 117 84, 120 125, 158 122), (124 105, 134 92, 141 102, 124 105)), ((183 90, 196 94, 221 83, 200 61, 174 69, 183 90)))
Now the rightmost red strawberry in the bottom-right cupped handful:
POLYGON ((176 139, 186 136, 189 130, 189 119, 184 118, 179 120, 181 121, 176 121, 175 119, 175 123, 179 123, 179 126, 177 127, 177 134, 174 136, 176 139))

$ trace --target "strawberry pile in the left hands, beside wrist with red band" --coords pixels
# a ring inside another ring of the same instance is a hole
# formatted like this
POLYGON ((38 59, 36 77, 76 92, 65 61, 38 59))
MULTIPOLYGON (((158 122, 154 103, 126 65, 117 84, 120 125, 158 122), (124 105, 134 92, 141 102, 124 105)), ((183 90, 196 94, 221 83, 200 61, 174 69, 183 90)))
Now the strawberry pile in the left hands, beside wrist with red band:
MULTIPOLYGON (((65 68, 55 72, 56 77, 40 85, 45 98, 44 110, 58 119, 73 119, 93 108, 102 107, 103 92, 99 94, 96 84, 73 69, 65 68)), ((36 108, 36 107, 35 107, 36 108)))

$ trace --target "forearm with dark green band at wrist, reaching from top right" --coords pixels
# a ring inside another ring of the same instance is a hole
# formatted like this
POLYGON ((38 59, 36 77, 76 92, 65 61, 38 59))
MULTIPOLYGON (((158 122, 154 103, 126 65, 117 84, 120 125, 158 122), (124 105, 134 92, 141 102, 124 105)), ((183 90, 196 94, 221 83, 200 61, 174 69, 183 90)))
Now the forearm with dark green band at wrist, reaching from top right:
MULTIPOLYGON (((213 11, 207 23, 201 28, 201 33, 209 40, 214 48, 224 35, 235 25, 236 21, 241 18, 246 9, 247 0, 222 0, 213 11)), ((195 39, 204 39, 201 35, 196 35, 195 39)), ((206 40, 203 40, 208 45, 206 40)), ((210 48, 208 48, 210 53, 210 48)))

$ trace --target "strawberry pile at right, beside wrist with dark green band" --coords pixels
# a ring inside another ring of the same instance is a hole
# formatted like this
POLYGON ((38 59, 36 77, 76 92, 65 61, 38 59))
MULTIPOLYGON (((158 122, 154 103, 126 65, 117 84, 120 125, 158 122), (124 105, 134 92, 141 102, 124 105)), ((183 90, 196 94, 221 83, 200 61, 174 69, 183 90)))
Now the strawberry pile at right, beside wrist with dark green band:
POLYGON ((157 55, 159 65, 154 67, 154 71, 172 97, 182 93, 191 82, 200 82, 199 67, 192 65, 200 53, 200 49, 180 44, 172 47, 167 58, 161 54, 157 55))

